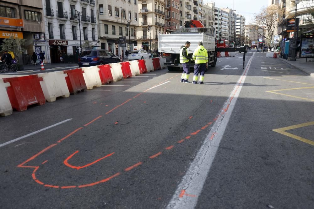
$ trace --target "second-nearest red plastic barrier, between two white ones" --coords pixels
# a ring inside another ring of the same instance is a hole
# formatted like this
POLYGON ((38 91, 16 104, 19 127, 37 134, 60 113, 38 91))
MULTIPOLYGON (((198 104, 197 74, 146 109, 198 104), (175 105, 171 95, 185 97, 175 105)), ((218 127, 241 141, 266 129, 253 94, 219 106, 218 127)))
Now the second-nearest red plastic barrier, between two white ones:
POLYGON ((66 70, 63 73, 67 73, 68 76, 65 77, 65 81, 67 81, 67 85, 70 93, 77 94, 78 91, 86 91, 86 83, 83 77, 84 71, 82 69, 77 68, 74 70, 66 70))

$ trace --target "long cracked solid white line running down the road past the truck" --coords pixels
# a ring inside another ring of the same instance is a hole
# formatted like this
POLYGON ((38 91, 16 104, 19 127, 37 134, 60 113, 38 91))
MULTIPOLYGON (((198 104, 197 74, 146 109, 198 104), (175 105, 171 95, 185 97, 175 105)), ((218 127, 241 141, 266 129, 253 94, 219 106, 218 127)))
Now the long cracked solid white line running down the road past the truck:
POLYGON ((203 185, 208 176, 210 167, 214 161, 219 143, 224 135, 233 108, 236 105, 236 100, 241 92, 241 88, 245 81, 248 69, 250 68, 253 56, 248 61, 245 71, 239 78, 237 84, 234 86, 232 92, 230 93, 229 98, 222 107, 222 109, 227 109, 227 112, 221 115, 221 111, 219 111, 218 115, 220 117, 215 121, 213 127, 210 129, 201 148, 198 150, 196 157, 189 166, 187 173, 184 175, 181 183, 176 189, 175 194, 172 196, 171 201, 168 203, 166 207, 167 209, 195 208, 198 202, 198 197, 201 195, 203 185), (232 97, 233 99, 231 100, 232 97), (214 138, 212 138, 213 136, 214 138), (212 140, 210 140, 210 138, 212 138, 212 140), (182 194, 182 192, 184 193, 182 194), (191 197, 191 195, 193 197, 191 197))

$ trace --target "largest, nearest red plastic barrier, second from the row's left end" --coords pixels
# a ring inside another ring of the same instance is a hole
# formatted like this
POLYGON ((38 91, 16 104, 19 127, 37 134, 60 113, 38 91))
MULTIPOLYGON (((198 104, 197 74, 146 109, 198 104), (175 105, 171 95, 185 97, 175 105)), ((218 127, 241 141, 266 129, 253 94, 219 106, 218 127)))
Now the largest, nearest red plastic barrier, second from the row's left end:
POLYGON ((10 83, 7 92, 12 108, 24 111, 29 105, 45 104, 46 99, 40 85, 42 80, 37 75, 3 78, 3 82, 10 83))

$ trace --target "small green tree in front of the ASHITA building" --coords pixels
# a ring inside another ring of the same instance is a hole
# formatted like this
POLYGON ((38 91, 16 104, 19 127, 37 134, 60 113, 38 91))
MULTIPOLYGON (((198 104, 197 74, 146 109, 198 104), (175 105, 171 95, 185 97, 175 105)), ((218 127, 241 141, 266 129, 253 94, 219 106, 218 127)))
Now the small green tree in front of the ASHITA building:
POLYGON ((24 44, 26 42, 26 39, 16 39, 13 36, 10 36, 9 38, 6 38, 3 40, 1 48, 1 52, 3 51, 12 51, 14 53, 15 59, 19 61, 19 56, 24 51, 24 44))

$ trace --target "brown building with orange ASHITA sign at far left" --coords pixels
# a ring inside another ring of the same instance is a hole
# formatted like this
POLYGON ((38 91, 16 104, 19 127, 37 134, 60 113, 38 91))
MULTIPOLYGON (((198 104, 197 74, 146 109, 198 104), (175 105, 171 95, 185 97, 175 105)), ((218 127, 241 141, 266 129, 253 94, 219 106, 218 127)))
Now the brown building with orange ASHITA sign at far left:
MULTIPOLYGON (((44 13, 41 1, 1 0, 0 1, 0 45, 3 39, 13 36, 25 39, 23 54, 37 54, 47 51, 45 40, 44 13)), ((23 60, 22 60, 23 61, 23 60)), ((20 64, 29 64, 22 63, 20 64)))

